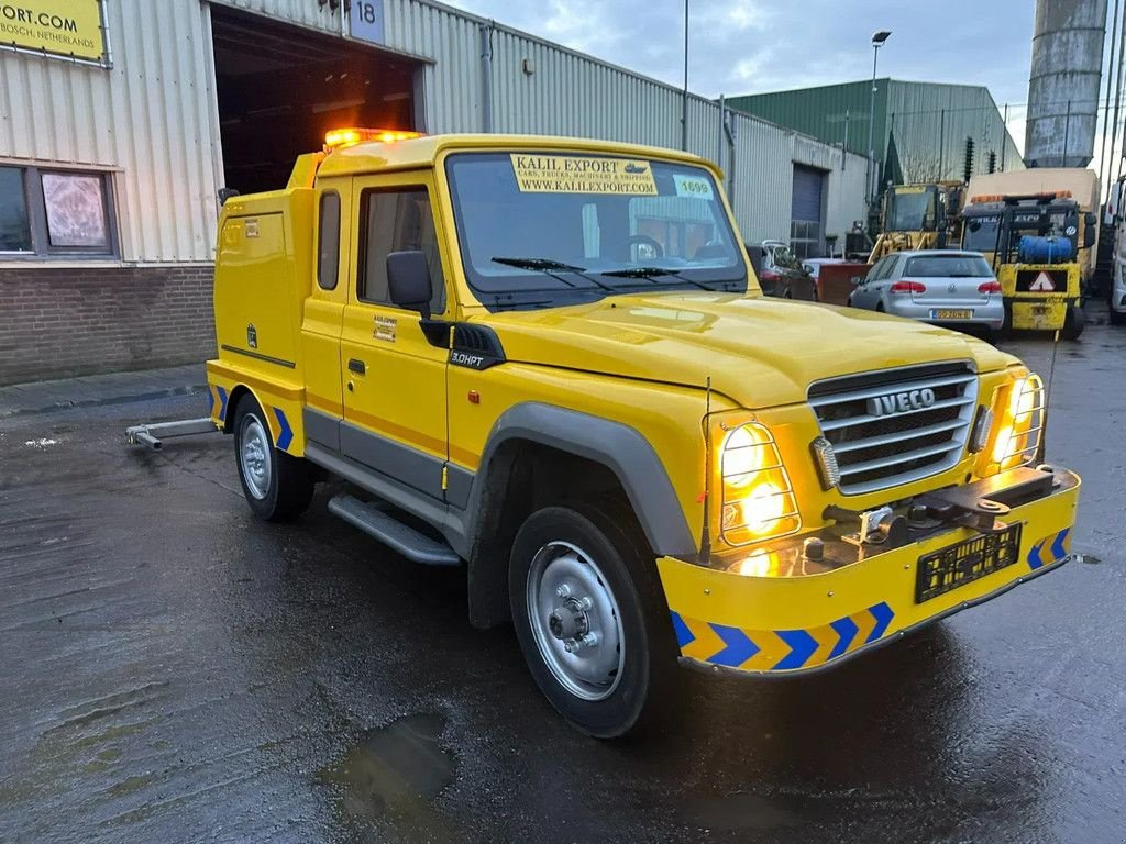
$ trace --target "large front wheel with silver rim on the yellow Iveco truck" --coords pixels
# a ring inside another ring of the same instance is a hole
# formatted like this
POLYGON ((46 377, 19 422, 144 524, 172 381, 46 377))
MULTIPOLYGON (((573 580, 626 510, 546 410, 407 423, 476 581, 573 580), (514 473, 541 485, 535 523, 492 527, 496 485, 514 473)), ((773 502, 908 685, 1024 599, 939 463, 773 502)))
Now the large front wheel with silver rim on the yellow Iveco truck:
POLYGON ((600 511, 544 508, 516 536, 512 620, 536 684, 572 725, 615 738, 650 721, 676 663, 641 542, 600 511), (644 719, 643 719, 643 716, 644 719))

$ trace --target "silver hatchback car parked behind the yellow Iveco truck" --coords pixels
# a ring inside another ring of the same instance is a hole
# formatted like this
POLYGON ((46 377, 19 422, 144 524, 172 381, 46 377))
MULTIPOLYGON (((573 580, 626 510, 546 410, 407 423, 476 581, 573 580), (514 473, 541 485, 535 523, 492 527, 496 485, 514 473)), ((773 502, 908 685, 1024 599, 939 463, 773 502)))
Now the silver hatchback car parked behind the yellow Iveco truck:
POLYGON ((1004 325, 1001 285, 981 252, 933 249, 884 255, 848 304, 956 329, 992 332, 1004 325))

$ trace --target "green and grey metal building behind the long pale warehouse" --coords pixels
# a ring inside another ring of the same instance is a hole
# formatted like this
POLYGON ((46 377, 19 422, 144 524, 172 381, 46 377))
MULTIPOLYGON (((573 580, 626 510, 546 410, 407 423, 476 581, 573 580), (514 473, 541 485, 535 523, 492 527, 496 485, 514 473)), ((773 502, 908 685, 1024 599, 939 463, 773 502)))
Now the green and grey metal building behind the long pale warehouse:
MULTIPOLYGON (((727 98, 757 115, 850 152, 868 154, 872 81, 727 98)), ((962 179, 966 140, 973 141, 972 173, 1024 169, 988 88, 876 80, 873 149, 879 182, 962 179)))

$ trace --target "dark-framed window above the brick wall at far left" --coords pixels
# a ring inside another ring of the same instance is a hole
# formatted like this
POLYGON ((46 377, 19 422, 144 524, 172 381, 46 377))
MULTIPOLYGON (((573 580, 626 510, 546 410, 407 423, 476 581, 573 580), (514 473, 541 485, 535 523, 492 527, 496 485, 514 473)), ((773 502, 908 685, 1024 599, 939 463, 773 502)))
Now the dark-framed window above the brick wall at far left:
POLYGON ((109 176, 0 165, 0 254, 117 254, 109 176))

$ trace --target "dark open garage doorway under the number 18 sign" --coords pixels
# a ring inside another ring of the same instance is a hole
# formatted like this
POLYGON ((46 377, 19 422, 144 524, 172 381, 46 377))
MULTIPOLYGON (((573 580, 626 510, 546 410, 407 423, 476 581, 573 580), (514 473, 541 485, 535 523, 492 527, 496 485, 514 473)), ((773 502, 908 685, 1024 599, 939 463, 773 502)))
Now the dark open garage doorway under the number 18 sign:
POLYGON ((211 18, 225 187, 284 188, 331 128, 417 128, 419 63, 226 7, 211 18))

